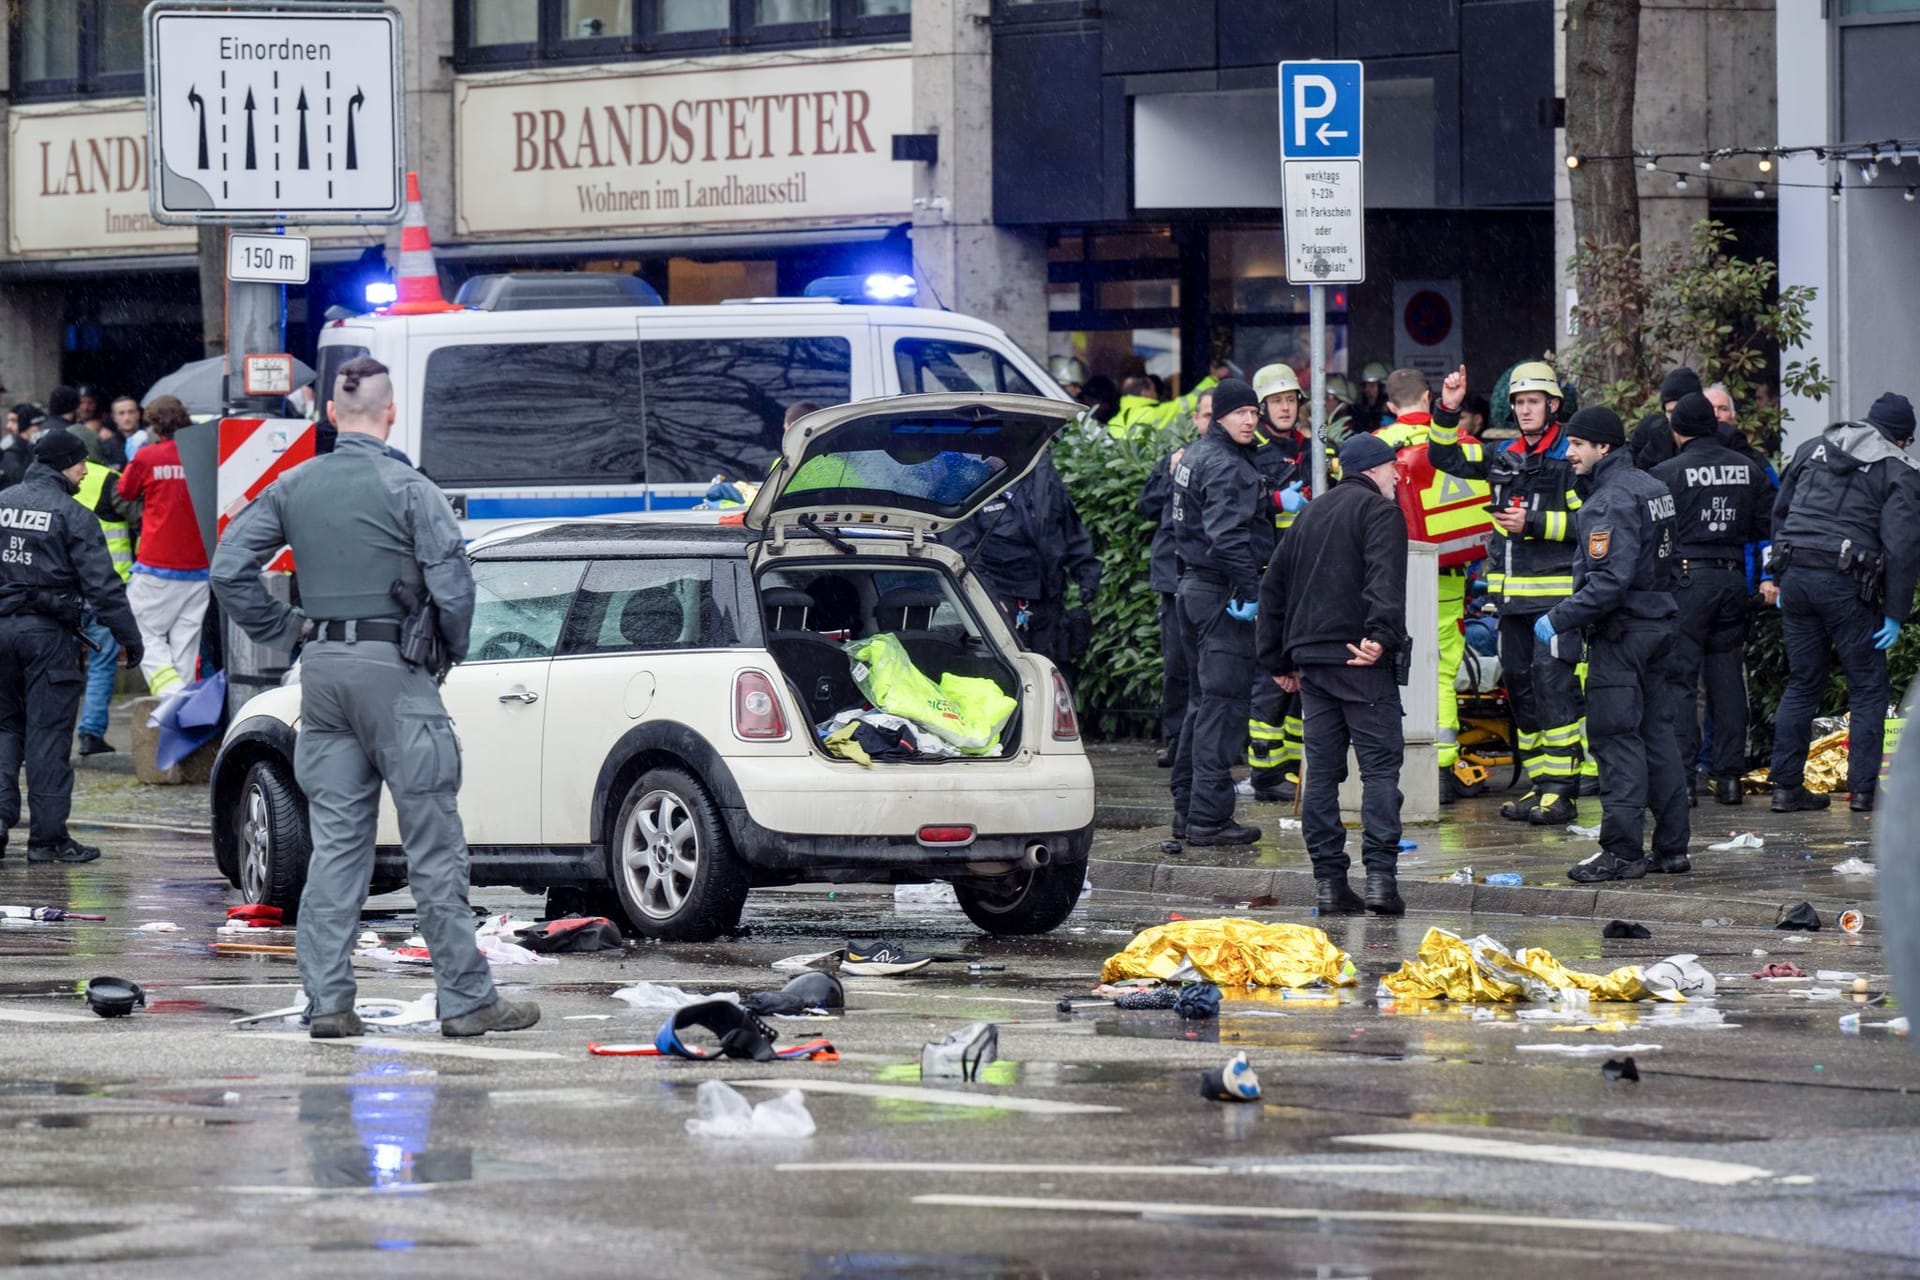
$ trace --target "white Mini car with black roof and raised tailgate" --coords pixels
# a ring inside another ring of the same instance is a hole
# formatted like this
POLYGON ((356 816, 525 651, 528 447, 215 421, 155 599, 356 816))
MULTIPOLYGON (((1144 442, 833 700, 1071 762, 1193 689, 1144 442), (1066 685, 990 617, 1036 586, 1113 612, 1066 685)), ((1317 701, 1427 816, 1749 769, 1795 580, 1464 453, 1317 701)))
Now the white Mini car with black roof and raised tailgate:
MULTIPOLYGON (((1092 842, 1071 693, 929 535, 1025 476, 1077 413, 1029 395, 841 405, 787 430, 745 526, 603 520, 476 547, 472 645, 442 691, 472 883, 609 908, 612 890, 641 935, 712 938, 755 885, 943 879, 981 929, 1054 929, 1092 842), (849 649, 879 635, 935 685, 991 681, 954 687, 1012 704, 998 733, 968 754, 925 731, 906 758, 829 752, 816 725, 870 706, 856 674, 877 689, 849 649)), ((288 913, 309 852, 298 729, 298 683, 269 689, 213 770, 221 873, 288 913)), ((372 890, 397 889, 390 800, 376 844, 372 890)))

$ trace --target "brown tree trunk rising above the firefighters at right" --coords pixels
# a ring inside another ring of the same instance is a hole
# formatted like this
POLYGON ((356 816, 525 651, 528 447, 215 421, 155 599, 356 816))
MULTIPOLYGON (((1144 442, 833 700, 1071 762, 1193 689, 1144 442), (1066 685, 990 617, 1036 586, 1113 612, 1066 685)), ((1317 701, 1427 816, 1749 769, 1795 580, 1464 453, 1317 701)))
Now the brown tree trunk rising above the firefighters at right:
MULTIPOLYGON (((1634 273, 1636 286, 1640 251, 1619 249, 1640 244, 1640 161, 1632 159, 1638 58, 1640 0, 1567 0, 1567 154, 1582 157, 1569 175, 1574 249, 1582 257, 1599 249, 1597 261, 1634 273)), ((1597 282, 1586 278, 1590 269, 1576 282, 1582 297, 1597 294, 1597 282)), ((1611 282, 1615 290, 1622 284, 1611 282)), ((1609 382, 1632 378, 1640 367, 1638 326, 1628 328, 1630 349, 1601 353, 1609 382)))

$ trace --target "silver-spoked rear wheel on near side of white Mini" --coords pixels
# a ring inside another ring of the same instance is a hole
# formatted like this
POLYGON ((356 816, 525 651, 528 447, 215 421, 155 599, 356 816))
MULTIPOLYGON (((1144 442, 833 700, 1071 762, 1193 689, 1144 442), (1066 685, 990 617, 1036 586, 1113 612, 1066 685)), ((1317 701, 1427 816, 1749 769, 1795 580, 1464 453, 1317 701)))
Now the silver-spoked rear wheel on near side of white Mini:
POLYGON ((634 933, 708 942, 739 923, 747 867, 720 808, 685 771, 649 770, 628 789, 607 852, 634 933))

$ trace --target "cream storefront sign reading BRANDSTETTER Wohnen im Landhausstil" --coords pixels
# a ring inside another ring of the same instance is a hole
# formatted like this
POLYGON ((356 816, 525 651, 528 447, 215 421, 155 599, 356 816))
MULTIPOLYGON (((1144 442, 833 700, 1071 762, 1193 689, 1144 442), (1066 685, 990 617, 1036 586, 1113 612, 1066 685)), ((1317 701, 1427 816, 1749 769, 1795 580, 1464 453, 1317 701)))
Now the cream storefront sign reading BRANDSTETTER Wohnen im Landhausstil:
POLYGON ((908 217, 912 109, 902 56, 463 79, 457 230, 908 217))

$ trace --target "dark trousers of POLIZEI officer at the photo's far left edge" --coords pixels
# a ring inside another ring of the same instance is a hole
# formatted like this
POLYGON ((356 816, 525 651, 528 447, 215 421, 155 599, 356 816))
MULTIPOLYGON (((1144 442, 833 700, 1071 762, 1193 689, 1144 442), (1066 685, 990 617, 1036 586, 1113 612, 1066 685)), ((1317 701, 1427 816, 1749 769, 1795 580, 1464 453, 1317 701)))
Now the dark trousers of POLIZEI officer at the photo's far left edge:
POLYGON ((67 839, 73 808, 73 722, 86 668, 81 641, 52 618, 0 618, 0 844, 19 821, 19 766, 33 800, 29 844, 67 839))

